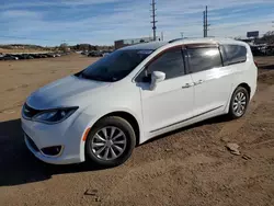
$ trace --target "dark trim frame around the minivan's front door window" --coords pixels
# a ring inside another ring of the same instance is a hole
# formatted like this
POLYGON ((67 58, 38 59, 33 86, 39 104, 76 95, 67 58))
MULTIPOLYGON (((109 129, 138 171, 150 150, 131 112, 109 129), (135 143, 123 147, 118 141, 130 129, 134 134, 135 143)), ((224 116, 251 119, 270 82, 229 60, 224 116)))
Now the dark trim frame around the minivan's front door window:
MULTIPOLYGON (((164 53, 171 50, 171 49, 174 49, 174 48, 178 48, 180 47, 181 48, 181 53, 182 53, 182 60, 184 62, 184 72, 185 75, 183 76, 186 76, 186 75, 190 75, 190 70, 189 70, 189 64, 186 64, 186 59, 187 59, 187 55, 186 55, 186 48, 185 48, 185 45, 176 45, 176 46, 173 46, 173 47, 169 47, 162 52, 160 52, 159 54, 157 54, 152 59, 150 59, 137 73, 136 76, 133 78, 133 82, 134 83, 140 83, 138 81, 136 81, 136 79, 139 77, 139 75, 148 68, 148 66, 153 62, 155 60, 157 60, 158 58, 160 58, 164 53)), ((180 77, 183 77, 183 76, 180 76, 180 77)), ((180 78, 180 77, 174 77, 174 78, 170 78, 170 79, 175 79, 175 78, 180 78)), ((170 79, 167 79, 167 80, 170 80, 170 79)), ((164 80, 165 81, 165 80, 164 80)))

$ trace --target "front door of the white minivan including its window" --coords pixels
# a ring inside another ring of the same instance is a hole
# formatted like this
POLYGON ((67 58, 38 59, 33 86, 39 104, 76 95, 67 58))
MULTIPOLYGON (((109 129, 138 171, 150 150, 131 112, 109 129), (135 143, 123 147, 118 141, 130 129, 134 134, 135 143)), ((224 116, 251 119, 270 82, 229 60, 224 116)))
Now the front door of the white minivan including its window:
MULTIPOLYGON (((137 78, 142 103, 142 118, 148 136, 193 115, 193 81, 185 70, 182 47, 170 48, 149 62, 137 78), (165 80, 151 91, 144 77, 153 71, 165 73, 165 80)), ((152 135, 151 135, 152 136, 152 135)))

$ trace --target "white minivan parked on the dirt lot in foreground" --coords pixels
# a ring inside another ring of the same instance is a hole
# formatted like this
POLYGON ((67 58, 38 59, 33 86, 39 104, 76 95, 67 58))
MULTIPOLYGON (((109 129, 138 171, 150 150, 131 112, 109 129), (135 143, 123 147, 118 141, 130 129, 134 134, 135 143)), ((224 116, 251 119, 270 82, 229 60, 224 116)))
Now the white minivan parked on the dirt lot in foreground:
POLYGON ((258 68, 248 44, 175 39, 128 46, 27 98, 27 148, 48 163, 114 167, 152 137, 244 115, 258 68))

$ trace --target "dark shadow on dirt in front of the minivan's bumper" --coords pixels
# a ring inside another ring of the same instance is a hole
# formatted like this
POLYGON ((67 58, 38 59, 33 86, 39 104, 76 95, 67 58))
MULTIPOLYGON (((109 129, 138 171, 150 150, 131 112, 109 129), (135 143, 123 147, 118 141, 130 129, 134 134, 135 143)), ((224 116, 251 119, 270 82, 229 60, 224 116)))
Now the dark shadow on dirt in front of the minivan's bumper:
POLYGON ((50 179, 54 174, 103 170, 88 163, 53 165, 37 160, 25 147, 21 121, 0 123, 0 186, 50 179))

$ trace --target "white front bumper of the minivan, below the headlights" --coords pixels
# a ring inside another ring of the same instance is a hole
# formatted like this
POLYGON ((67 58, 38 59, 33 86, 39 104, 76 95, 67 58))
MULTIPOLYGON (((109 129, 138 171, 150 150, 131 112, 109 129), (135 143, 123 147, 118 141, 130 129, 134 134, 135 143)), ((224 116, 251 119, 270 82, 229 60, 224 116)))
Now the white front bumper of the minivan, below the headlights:
POLYGON ((84 161, 84 141, 82 136, 87 128, 87 119, 75 117, 56 125, 46 125, 21 118, 25 134, 25 145, 39 160, 53 164, 69 164, 84 161), (47 156, 42 149, 61 146, 57 156, 47 156))

